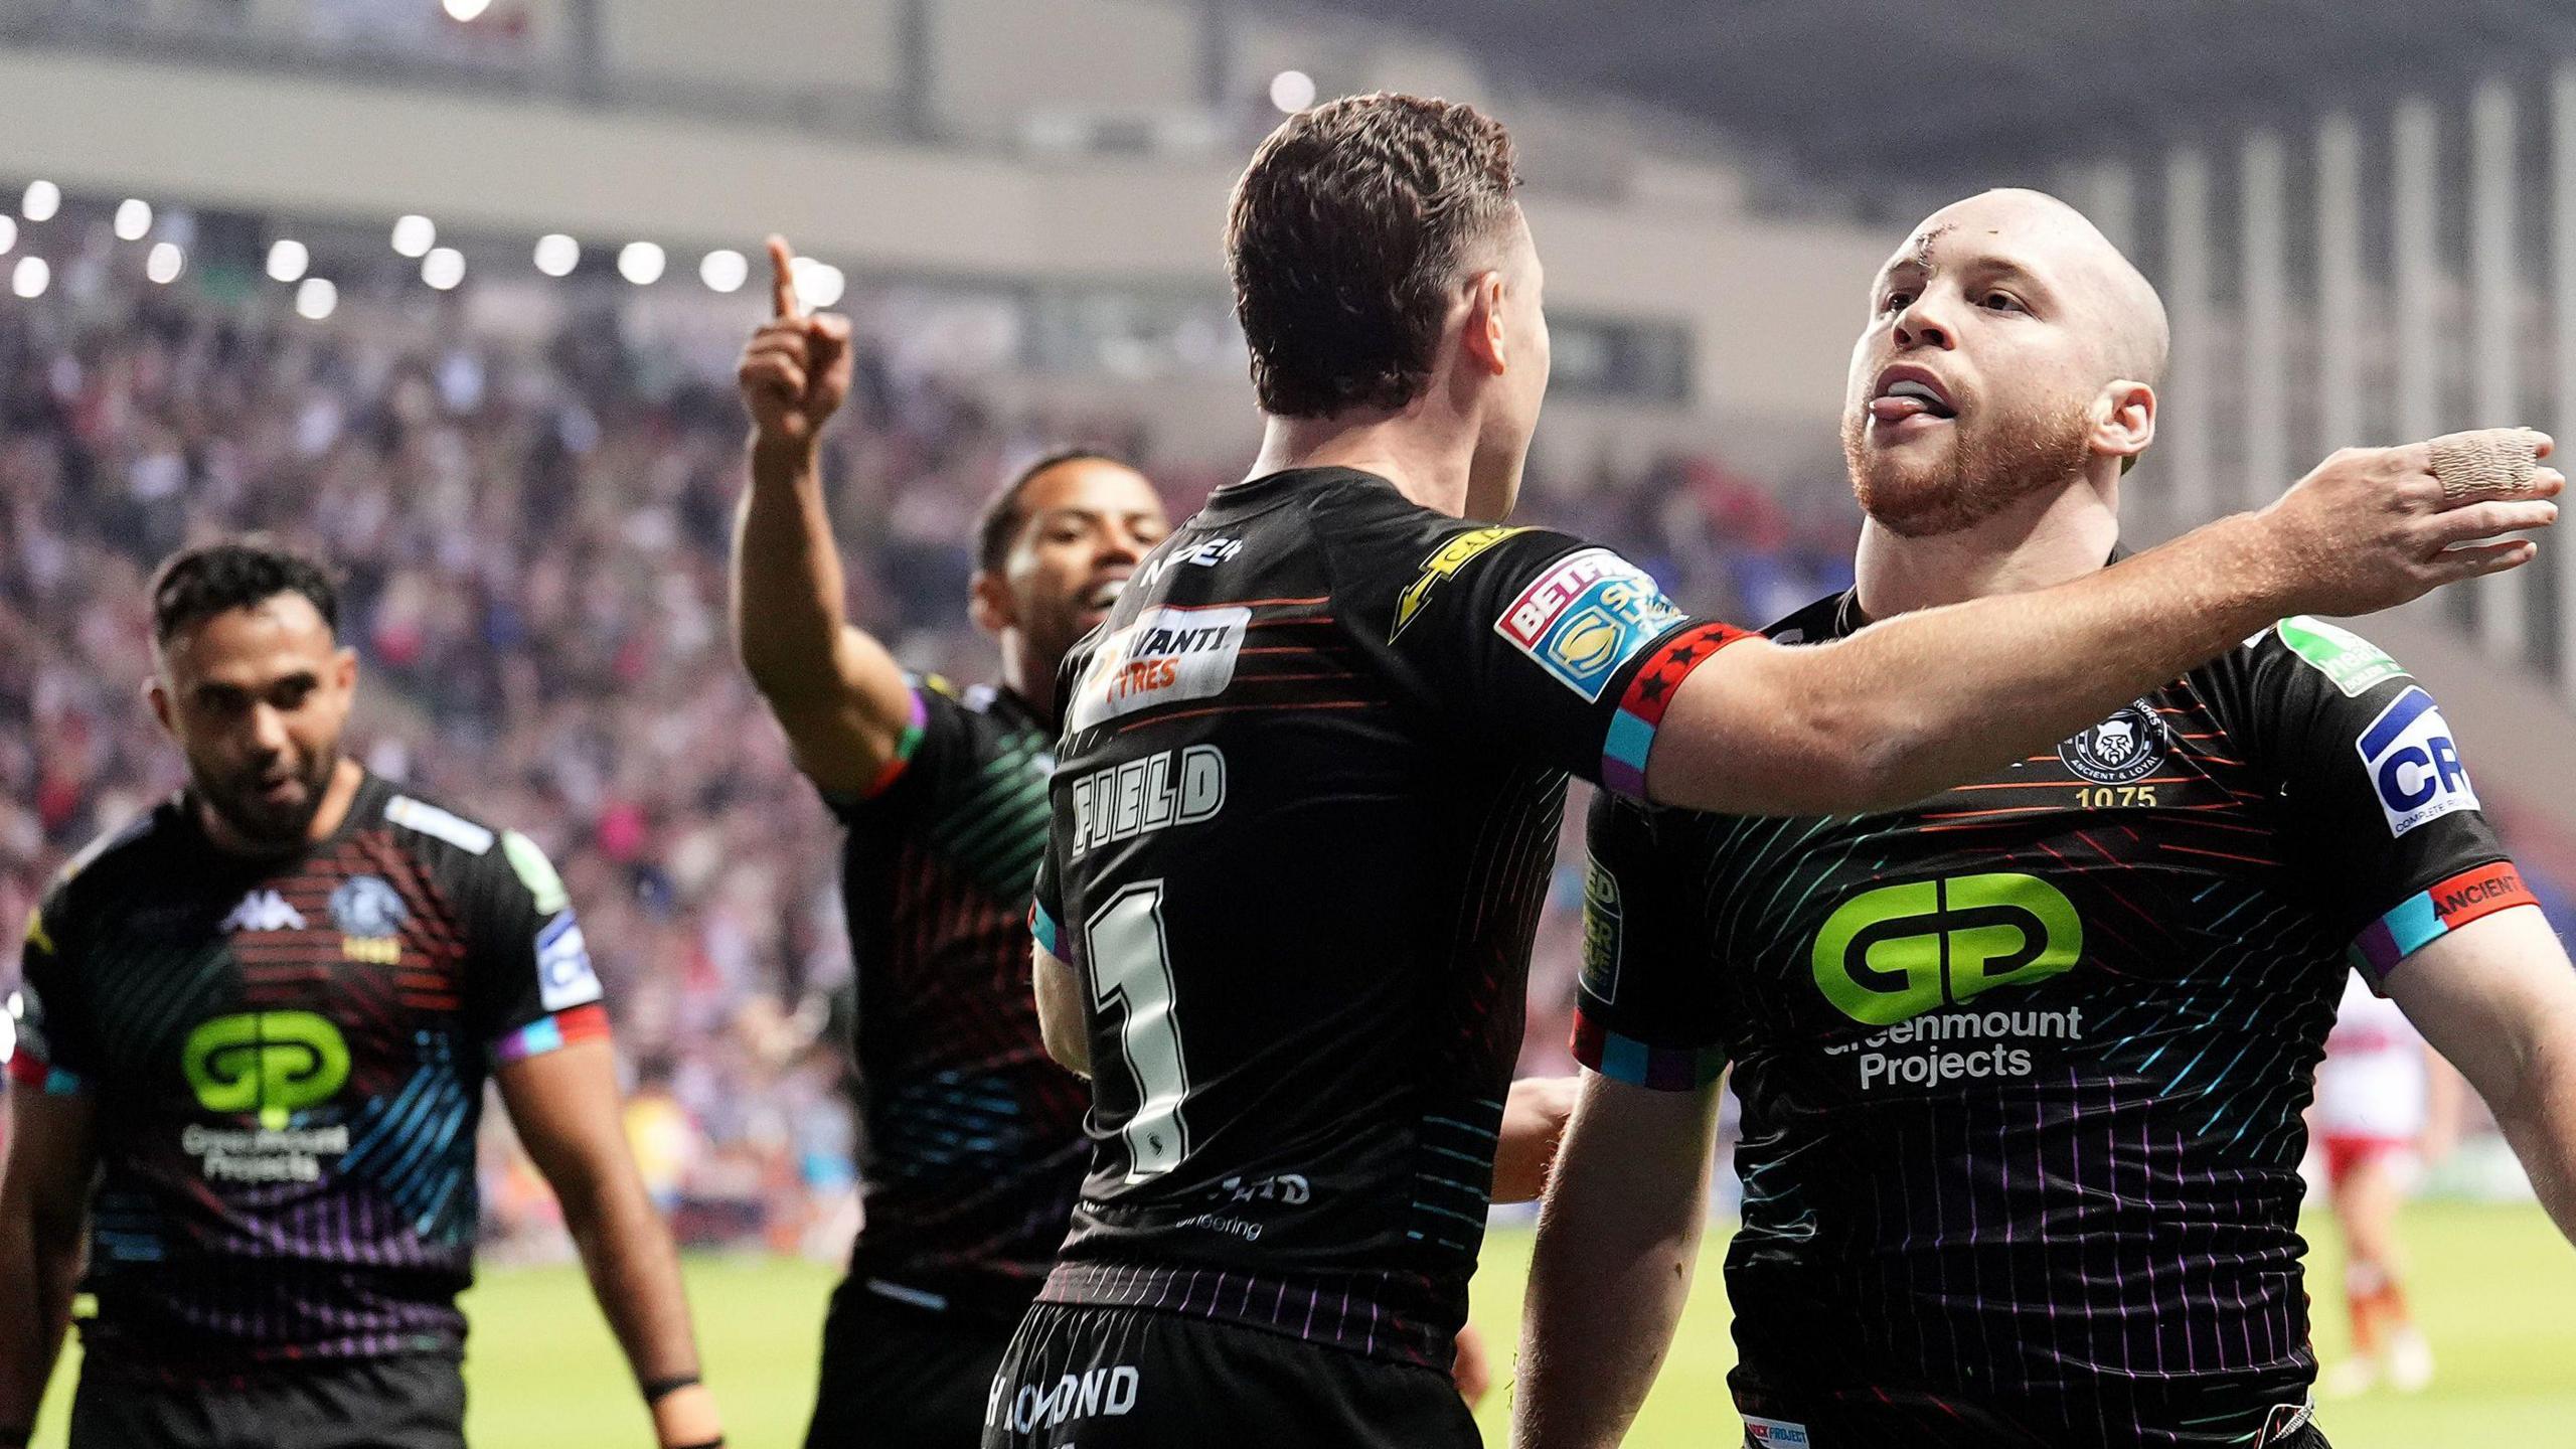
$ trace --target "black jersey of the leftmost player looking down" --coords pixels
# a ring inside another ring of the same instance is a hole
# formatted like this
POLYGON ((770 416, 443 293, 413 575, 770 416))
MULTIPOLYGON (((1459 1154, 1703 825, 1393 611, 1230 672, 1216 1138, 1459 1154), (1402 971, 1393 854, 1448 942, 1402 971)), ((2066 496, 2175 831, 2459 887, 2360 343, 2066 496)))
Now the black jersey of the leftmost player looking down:
POLYGON ((185 794, 90 846, 18 1029, 10 1078, 98 1111, 82 1341, 188 1377, 459 1354, 484 1080, 608 1016, 544 851, 368 776, 294 856, 185 794))

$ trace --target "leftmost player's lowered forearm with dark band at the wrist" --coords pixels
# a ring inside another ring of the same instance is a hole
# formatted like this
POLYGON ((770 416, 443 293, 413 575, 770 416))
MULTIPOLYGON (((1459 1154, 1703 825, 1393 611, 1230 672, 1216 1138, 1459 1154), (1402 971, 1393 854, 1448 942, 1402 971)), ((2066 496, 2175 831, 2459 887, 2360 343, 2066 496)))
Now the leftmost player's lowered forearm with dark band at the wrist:
POLYGON ((574 1042, 507 1062, 497 1080, 518 1140, 564 1204, 590 1292, 636 1385, 652 1395, 662 1446, 721 1444, 716 1400, 696 1382, 698 1343, 680 1292, 680 1256, 626 1147, 613 1049, 598 1039, 574 1042), (667 1390, 675 1382, 688 1387, 667 1390))

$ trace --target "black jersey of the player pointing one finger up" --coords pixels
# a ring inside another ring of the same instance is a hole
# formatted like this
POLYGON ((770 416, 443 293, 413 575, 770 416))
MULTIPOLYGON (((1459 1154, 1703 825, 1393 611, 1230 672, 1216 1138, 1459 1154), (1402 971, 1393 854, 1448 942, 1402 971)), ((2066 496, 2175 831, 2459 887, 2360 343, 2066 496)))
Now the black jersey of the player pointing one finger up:
POLYGON ((848 828, 866 1222, 850 1274, 922 1307, 1018 1323, 1082 1186, 1082 1080, 1046 1057, 1028 882, 1051 740, 1015 694, 912 681, 912 727, 848 828))

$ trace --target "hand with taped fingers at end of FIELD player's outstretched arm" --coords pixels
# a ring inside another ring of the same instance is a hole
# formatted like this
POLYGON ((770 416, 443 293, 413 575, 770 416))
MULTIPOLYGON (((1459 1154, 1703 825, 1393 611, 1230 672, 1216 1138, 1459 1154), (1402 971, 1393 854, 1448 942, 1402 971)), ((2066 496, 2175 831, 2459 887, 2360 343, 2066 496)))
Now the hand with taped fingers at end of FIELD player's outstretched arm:
MULTIPOLYGON (((2506 436, 2519 431, 2494 431, 2506 436)), ((2545 433, 2537 456, 2550 456, 2545 433)), ((2460 433, 2455 438, 2481 438, 2460 433)), ((2566 477, 2535 467, 2530 485, 2463 487, 2450 464, 2445 492, 2434 443, 2344 449, 2329 456, 2257 518, 2293 614, 2370 614, 2421 598, 2445 583, 2532 562, 2530 539, 2499 539, 2558 521, 2553 498, 2566 477)))

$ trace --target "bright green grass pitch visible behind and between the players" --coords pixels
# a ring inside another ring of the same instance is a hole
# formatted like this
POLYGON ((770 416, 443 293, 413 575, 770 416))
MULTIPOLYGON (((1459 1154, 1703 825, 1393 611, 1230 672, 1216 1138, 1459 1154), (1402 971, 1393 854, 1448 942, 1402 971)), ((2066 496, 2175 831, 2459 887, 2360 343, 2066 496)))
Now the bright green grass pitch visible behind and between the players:
MULTIPOLYGON (((2326 1220, 2311 1220, 2308 1261, 2318 1351, 2344 1346, 2331 1284, 2342 1248, 2326 1220)), ((2576 1250, 2532 1207, 2427 1204, 2406 1217, 2414 1253, 2411 1294, 2432 1333, 2442 1372, 2416 1397, 2375 1392, 2326 1403, 2321 1423, 2336 1449, 2421 1444, 2571 1444, 2576 1439, 2576 1250)), ((1718 1292, 1723 1243, 1710 1238, 1698 1292, 1672 1364, 1664 1369, 1631 1449, 1710 1449, 1734 1444, 1726 1400, 1726 1299, 1718 1292)), ((1476 1274, 1476 1320, 1497 1354, 1517 1336, 1520 1284, 1530 1235, 1497 1230, 1476 1274)), ((688 1289, 698 1310, 708 1382, 724 1397, 732 1444, 796 1449, 814 1392, 814 1338, 832 1271, 775 1258, 693 1258, 688 1289)), ((471 1441, 477 1449, 649 1449, 652 1431, 626 1385, 580 1271, 492 1271, 466 1299, 474 1318, 471 1441)), ((72 1366, 57 1372, 39 1449, 62 1444, 72 1366)), ((1507 1374, 1504 1374, 1507 1379, 1507 1374)), ((1479 1415, 1489 1444, 1504 1441, 1507 1390, 1479 1415)))

